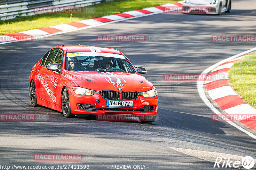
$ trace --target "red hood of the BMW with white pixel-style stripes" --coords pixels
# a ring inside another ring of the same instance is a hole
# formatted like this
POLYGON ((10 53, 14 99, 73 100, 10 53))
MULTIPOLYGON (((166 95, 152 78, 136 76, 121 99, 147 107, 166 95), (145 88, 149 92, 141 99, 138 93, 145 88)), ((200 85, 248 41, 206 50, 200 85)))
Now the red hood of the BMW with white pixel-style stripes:
POLYGON ((143 92, 154 88, 151 82, 137 73, 67 71, 65 77, 80 87, 97 91, 118 91, 117 88, 121 88, 122 91, 143 92))

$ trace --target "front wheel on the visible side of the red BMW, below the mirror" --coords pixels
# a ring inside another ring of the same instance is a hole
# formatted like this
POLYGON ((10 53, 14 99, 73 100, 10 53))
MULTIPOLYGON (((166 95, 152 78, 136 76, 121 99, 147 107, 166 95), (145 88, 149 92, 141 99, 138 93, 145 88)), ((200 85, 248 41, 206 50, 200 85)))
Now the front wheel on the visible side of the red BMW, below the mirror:
POLYGON ((64 117, 73 117, 73 114, 71 114, 69 93, 67 88, 63 90, 61 95, 61 110, 64 117))

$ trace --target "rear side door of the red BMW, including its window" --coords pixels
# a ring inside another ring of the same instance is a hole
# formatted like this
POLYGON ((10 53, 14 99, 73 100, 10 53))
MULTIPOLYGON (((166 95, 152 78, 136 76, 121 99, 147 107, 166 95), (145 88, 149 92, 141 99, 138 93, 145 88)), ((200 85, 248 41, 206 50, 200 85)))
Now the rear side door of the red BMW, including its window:
MULTIPOLYGON (((54 100, 54 94, 52 93, 52 91, 49 89, 49 84, 47 83, 47 78, 48 78, 48 70, 47 67, 49 64, 52 63, 52 60, 54 59, 54 57, 56 56, 58 50, 54 49, 51 50, 50 53, 48 54, 46 60, 44 61, 44 63, 42 63, 42 67, 40 68, 40 74, 38 75, 38 79, 39 82, 41 84, 41 89, 42 91, 38 92, 41 93, 42 99, 46 102, 52 101, 54 100)), ((45 104, 44 104, 45 105, 45 104)))

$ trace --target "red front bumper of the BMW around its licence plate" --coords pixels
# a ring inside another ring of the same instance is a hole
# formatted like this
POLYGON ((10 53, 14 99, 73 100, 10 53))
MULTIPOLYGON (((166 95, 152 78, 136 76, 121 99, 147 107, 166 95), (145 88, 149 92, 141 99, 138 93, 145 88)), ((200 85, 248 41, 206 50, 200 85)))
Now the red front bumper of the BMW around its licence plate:
MULTIPOLYGON (((156 116, 158 109, 158 96, 155 97, 144 97, 138 96, 133 101, 133 107, 108 107, 106 106, 107 100, 104 99, 100 94, 94 94, 92 96, 77 95, 72 88, 68 90, 70 97, 70 108, 72 114, 132 114, 132 115, 144 115, 144 116, 156 116), (79 107, 79 104, 86 104, 93 107, 95 111, 83 110, 79 107), (140 112, 139 109, 145 106, 154 106, 154 110, 149 112, 140 112), (98 109, 95 109, 98 108, 98 109)), ((121 99, 118 99, 121 100, 121 99)))

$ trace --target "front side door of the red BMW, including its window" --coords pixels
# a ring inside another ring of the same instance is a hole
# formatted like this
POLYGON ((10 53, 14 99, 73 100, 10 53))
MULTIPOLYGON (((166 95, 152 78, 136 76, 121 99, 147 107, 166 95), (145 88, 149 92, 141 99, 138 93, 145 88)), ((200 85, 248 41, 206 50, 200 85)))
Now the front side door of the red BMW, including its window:
MULTIPOLYGON (((63 51, 59 49, 51 64, 60 64, 59 69, 62 70, 62 59, 63 51)), ((60 94, 63 84, 63 79, 61 78, 61 73, 52 70, 47 71, 46 82, 48 84, 50 93, 52 94, 48 102, 57 106, 60 106, 60 94)))

